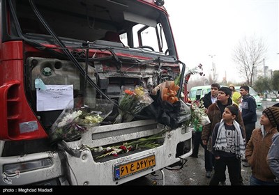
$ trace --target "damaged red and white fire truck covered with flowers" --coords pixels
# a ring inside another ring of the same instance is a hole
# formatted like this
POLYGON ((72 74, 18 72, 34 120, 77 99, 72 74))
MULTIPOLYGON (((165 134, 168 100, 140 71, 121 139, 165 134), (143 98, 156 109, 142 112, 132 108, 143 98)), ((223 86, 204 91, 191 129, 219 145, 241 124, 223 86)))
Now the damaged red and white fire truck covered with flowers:
POLYGON ((121 185, 192 153, 163 0, 0 3, 1 185, 121 185), (153 93, 172 81, 174 104, 153 93))

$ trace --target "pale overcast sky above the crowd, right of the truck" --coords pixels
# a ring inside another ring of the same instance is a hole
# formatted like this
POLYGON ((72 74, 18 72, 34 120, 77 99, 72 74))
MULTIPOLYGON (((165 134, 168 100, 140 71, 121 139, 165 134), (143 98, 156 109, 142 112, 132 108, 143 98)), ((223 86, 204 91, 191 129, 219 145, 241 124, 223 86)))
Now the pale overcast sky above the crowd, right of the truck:
POLYGON ((209 72, 209 55, 215 55, 218 81, 225 71, 227 81, 238 81, 232 50, 239 40, 252 36, 268 47, 265 65, 279 70, 279 0, 165 0, 164 6, 179 59, 189 68, 202 63, 209 72))

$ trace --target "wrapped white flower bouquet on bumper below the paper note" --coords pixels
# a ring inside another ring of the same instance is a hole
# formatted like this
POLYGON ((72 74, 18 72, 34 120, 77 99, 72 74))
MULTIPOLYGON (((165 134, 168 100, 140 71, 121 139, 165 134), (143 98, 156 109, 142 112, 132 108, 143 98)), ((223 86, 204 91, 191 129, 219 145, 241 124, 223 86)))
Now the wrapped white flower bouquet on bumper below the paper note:
MULTIPOLYGON (((96 100, 96 102, 98 101, 96 100)), ((107 110, 104 109, 103 104, 99 106, 103 108, 90 108, 83 105, 74 109, 64 109, 50 128, 50 140, 54 142, 61 139, 64 141, 80 139, 82 133, 86 132, 89 127, 100 125, 104 118, 112 112, 112 105, 106 105, 107 110)))

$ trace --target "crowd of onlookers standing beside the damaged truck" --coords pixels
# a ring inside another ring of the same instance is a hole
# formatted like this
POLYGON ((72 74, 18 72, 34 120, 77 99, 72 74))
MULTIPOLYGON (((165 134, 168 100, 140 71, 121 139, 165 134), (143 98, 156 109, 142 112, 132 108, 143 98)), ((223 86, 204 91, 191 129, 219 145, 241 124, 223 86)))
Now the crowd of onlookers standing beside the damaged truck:
POLYGON ((204 102, 210 123, 195 127, 191 157, 204 148, 209 185, 226 185, 226 169, 231 185, 243 185, 242 166, 250 166, 250 185, 279 185, 279 104, 264 109, 256 127, 257 105, 249 86, 239 92, 233 85, 211 84, 204 102), (213 173, 213 174, 212 174, 213 173))

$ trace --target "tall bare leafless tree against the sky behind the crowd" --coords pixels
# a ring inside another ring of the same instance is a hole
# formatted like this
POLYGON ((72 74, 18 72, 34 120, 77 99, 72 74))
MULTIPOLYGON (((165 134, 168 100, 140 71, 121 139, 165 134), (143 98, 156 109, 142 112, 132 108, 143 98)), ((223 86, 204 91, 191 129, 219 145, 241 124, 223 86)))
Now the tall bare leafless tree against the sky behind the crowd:
POLYGON ((252 86, 252 78, 257 74, 257 67, 261 65, 266 50, 262 38, 244 37, 236 45, 232 59, 239 65, 239 73, 246 77, 248 85, 252 86))

